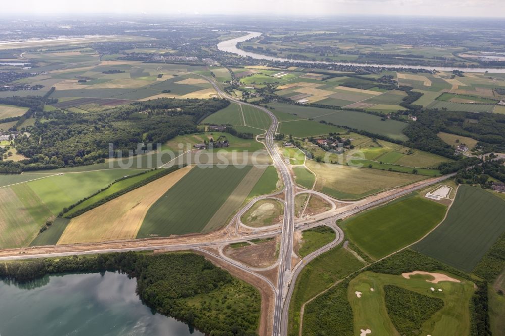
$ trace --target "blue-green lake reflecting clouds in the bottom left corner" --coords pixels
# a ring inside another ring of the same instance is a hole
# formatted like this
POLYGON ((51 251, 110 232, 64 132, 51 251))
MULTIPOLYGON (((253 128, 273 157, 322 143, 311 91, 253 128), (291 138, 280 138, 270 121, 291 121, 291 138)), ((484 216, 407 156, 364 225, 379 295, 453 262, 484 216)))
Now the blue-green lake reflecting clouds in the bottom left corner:
POLYGON ((0 335, 203 336, 156 314, 114 272, 46 275, 23 285, 0 281, 0 335))

